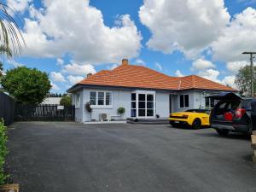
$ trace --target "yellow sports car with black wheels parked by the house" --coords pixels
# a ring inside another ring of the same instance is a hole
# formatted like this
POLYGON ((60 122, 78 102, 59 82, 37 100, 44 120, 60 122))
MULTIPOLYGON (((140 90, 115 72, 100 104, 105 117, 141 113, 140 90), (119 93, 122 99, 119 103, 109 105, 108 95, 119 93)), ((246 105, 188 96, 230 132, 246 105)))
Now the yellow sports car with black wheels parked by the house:
POLYGON ((177 125, 189 125, 194 129, 200 129, 202 126, 209 126, 210 110, 208 109, 189 109, 185 112, 171 113, 170 124, 173 127, 177 125))

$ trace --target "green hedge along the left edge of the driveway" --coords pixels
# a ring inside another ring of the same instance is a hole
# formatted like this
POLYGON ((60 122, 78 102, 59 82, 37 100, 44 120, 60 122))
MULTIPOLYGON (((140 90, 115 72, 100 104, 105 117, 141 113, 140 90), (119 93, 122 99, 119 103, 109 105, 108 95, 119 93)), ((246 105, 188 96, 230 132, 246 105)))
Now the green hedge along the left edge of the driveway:
POLYGON ((3 119, 0 119, 0 184, 5 183, 7 175, 4 173, 3 167, 5 164, 5 158, 8 154, 6 127, 3 124, 3 119))

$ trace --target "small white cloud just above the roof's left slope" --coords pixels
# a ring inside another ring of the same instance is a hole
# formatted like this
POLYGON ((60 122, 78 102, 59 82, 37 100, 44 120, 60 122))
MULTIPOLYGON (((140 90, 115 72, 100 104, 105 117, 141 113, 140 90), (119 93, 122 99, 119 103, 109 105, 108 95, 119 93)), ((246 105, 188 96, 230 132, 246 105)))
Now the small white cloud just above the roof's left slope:
POLYGON ((77 63, 70 63, 63 67, 62 73, 86 76, 88 73, 96 73, 95 67, 90 64, 79 65, 77 63))

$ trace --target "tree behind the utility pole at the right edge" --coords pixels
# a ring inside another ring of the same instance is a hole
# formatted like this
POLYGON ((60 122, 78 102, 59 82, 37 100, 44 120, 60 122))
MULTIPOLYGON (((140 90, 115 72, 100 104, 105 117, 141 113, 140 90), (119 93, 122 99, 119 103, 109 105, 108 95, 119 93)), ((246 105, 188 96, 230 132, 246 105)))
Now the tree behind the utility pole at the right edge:
MULTIPOLYGON (((253 67, 253 84, 256 88, 256 67, 253 67)), ((251 67, 241 67, 239 72, 236 74, 235 83, 239 90, 241 90, 241 94, 244 96, 250 96, 251 93, 251 67)), ((255 91, 255 90, 254 90, 255 91)))

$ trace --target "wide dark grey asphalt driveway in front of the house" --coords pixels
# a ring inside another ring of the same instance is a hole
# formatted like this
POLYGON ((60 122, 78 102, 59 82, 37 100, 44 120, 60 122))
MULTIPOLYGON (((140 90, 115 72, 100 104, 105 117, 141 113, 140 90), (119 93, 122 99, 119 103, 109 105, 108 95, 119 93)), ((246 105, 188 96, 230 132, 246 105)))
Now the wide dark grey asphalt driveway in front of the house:
POLYGON ((256 191, 249 137, 212 129, 16 123, 9 151, 21 192, 256 191))

